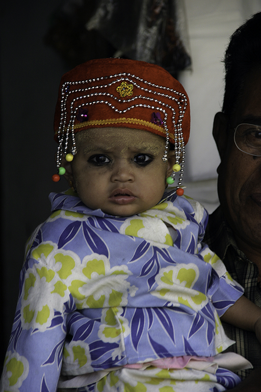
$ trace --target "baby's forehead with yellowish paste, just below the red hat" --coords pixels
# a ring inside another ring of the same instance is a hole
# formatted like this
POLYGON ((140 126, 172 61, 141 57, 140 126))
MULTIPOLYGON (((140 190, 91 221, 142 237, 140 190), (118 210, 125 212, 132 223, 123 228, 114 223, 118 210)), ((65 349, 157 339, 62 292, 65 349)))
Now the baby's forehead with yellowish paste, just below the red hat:
POLYGON ((133 128, 93 128, 75 134, 77 148, 85 152, 95 148, 110 150, 112 148, 143 150, 162 150, 165 145, 164 138, 148 131, 133 128))

